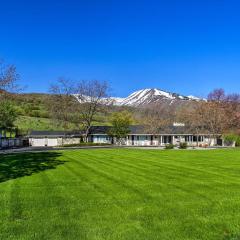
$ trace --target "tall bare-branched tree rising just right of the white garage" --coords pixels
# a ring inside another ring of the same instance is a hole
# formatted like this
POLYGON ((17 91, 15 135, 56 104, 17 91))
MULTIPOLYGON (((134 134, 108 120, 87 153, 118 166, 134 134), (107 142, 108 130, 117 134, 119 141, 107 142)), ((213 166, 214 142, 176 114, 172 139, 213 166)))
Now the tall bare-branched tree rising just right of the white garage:
POLYGON ((107 82, 98 80, 80 81, 75 90, 75 96, 81 103, 78 113, 85 131, 87 141, 89 130, 93 125, 95 117, 104 111, 108 105, 109 86, 107 82))

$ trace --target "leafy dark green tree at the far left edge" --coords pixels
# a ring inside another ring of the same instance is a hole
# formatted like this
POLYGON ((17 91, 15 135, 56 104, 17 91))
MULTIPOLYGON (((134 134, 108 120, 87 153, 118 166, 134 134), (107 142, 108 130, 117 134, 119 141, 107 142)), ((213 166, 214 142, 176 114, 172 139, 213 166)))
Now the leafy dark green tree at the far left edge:
POLYGON ((4 131, 14 127, 14 122, 17 118, 17 112, 12 103, 8 100, 0 102, 0 129, 4 131))

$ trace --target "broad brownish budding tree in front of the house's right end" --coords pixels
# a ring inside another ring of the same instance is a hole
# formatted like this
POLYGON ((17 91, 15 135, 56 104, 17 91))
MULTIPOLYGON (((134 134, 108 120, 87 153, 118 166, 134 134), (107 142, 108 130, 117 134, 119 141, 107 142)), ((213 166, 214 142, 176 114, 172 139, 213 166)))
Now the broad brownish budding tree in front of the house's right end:
POLYGON ((195 102, 191 107, 183 108, 180 118, 194 134, 217 138, 239 129, 239 103, 238 94, 226 95, 223 89, 216 89, 208 95, 207 101, 195 102))

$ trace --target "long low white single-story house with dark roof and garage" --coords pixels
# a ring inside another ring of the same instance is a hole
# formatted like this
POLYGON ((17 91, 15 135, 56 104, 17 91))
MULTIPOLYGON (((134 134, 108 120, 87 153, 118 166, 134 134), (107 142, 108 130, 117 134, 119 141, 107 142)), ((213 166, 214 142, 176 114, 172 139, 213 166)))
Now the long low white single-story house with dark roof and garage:
MULTIPOLYGON (((116 139, 109 136, 110 126, 93 126, 89 131, 88 141, 93 143, 116 144, 116 139)), ((144 126, 130 126, 130 132, 121 144, 127 146, 165 146, 166 144, 179 145, 186 142, 189 146, 223 145, 221 135, 218 137, 207 134, 193 134, 185 126, 169 126, 157 133, 147 133, 144 126)), ((84 133, 81 131, 32 131, 29 134, 30 146, 62 146, 78 144, 84 133)))

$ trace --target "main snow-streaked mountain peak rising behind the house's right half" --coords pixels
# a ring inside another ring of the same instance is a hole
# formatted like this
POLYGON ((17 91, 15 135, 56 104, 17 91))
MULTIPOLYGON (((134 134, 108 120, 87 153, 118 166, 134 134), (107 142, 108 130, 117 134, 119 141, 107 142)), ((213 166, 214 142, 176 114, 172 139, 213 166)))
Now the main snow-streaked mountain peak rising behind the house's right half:
POLYGON ((111 98, 115 105, 119 106, 142 106, 160 101, 200 101, 194 96, 183 96, 177 93, 162 91, 157 88, 147 88, 136 91, 126 98, 111 98))

